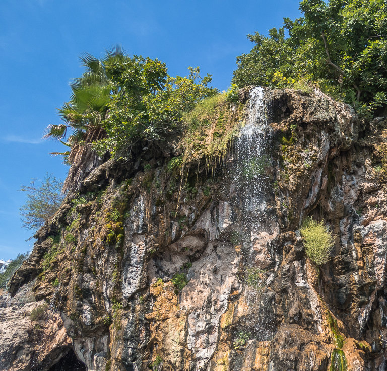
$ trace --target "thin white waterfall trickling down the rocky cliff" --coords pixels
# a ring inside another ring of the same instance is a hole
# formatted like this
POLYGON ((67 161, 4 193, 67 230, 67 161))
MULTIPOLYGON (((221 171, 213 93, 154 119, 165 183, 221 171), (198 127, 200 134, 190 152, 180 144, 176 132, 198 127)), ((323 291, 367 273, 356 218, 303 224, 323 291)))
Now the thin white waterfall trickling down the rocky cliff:
POLYGON ((270 299, 262 294, 264 269, 259 269, 257 246, 265 245, 263 237, 272 234, 273 194, 272 180, 272 129, 270 104, 265 102, 261 87, 250 91, 246 123, 235 141, 233 165, 230 168, 235 186, 235 222, 239 227, 243 265, 246 269, 246 298, 251 310, 251 338, 268 340, 273 334, 274 321, 270 299))

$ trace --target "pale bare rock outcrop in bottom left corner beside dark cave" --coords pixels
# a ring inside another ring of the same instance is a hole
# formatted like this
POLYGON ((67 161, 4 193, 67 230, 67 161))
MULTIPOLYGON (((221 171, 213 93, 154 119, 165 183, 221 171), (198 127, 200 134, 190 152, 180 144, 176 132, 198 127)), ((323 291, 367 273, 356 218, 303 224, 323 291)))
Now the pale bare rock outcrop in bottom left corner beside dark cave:
POLYGON ((60 313, 53 313, 44 301, 36 302, 31 294, 26 285, 11 303, 3 296, 0 369, 49 369, 71 348, 60 313))

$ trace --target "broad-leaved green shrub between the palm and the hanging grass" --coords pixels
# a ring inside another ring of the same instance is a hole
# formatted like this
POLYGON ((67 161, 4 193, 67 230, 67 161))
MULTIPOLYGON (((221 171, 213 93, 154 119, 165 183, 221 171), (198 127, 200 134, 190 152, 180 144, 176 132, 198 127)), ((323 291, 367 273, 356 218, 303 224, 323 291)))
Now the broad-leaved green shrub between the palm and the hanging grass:
POLYGON ((125 157, 139 140, 159 140, 179 131, 182 112, 217 92, 207 86, 211 76, 202 79, 199 68, 189 67, 188 77, 174 78, 167 75, 165 63, 136 55, 104 65, 114 89, 103 123, 107 138, 95 143, 99 154, 125 157))

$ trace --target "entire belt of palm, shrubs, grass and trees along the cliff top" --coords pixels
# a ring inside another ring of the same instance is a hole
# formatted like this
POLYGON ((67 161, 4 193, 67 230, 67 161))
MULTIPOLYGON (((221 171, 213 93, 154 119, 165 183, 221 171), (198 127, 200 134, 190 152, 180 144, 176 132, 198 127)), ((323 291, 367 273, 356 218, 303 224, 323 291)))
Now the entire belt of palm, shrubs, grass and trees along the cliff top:
POLYGON ((314 85, 362 115, 385 108, 386 4, 302 0, 300 9, 304 17, 285 18, 284 27, 271 29, 268 37, 249 35, 256 45, 237 57, 226 94, 209 87, 211 76, 201 78, 199 67, 189 67, 186 77, 171 77, 165 63, 128 56, 121 47, 107 50, 102 59, 82 55, 85 72, 71 83, 70 101, 59 109, 63 123, 50 125, 46 134, 62 140, 71 131, 62 141, 69 151, 61 154, 71 165, 64 188, 72 189, 109 156, 127 159, 137 143, 146 148, 176 134, 182 138, 182 167, 194 153, 216 163, 240 121, 226 118, 230 110, 223 108, 237 104, 238 88, 247 85, 314 85))

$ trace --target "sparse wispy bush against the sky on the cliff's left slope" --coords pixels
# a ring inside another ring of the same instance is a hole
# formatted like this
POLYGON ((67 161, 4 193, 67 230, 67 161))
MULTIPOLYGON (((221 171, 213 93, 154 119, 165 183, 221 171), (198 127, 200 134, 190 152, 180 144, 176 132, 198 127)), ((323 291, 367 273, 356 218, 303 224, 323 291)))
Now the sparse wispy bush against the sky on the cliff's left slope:
POLYGON ((55 214, 65 196, 62 186, 62 181, 47 173, 40 186, 33 179, 30 185, 20 188, 27 192, 26 203, 20 208, 24 228, 37 230, 55 214))

